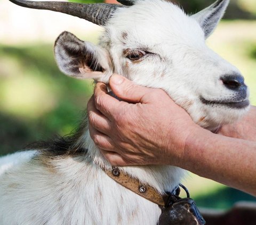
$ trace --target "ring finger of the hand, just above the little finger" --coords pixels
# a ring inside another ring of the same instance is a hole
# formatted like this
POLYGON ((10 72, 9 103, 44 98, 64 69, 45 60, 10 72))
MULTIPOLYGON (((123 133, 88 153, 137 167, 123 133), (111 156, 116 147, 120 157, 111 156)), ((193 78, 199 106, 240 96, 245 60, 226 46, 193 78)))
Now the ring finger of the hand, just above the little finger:
POLYGON ((92 126, 90 126, 90 124, 89 124, 89 131, 90 131, 90 136, 94 141, 95 145, 97 145, 99 148, 104 149, 106 151, 114 151, 115 149, 114 141, 110 137, 94 129, 92 126))

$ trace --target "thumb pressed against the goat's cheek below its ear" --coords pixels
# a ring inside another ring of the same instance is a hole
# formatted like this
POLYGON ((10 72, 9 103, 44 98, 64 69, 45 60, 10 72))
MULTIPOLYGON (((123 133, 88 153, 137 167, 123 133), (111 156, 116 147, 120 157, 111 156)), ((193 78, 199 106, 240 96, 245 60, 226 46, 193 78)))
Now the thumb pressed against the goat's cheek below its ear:
POLYGON ((136 85, 118 74, 113 74, 110 77, 109 85, 118 98, 131 103, 142 103, 143 97, 152 90, 151 88, 136 85))

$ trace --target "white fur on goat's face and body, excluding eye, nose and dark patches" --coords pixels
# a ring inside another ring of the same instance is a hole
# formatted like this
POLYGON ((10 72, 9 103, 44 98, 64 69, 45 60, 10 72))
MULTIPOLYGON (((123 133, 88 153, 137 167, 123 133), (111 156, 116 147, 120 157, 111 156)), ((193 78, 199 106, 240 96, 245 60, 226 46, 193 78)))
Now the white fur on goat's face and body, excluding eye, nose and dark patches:
MULTIPOLYGON (((187 16, 178 6, 159 0, 139 1, 120 9, 107 23, 101 47, 84 43, 86 48, 93 49, 105 69, 95 79, 107 83, 111 74, 119 73, 139 85, 162 88, 207 129, 241 118, 248 107, 231 109, 200 101, 201 96, 212 101, 235 99, 233 91, 223 87, 219 79, 223 74, 239 71, 207 48, 205 36, 209 34, 205 35, 199 26, 199 15, 187 16), (123 32, 127 32, 125 43, 123 32), (123 56, 123 51, 135 48, 146 48, 155 54, 132 63, 123 56)), ((68 73, 59 52, 61 46, 57 43, 57 62, 68 73)), ((7 158, 0 161, 0 224, 155 225, 161 214, 158 205, 118 185, 102 171, 100 166, 111 166, 103 159, 87 128, 77 143, 88 149, 86 155, 43 161, 33 158, 41 154, 39 151, 24 152, 17 156, 22 160, 9 169, 3 162, 7 158)), ((185 172, 174 166, 155 165, 121 169, 161 193, 177 186, 185 172)))

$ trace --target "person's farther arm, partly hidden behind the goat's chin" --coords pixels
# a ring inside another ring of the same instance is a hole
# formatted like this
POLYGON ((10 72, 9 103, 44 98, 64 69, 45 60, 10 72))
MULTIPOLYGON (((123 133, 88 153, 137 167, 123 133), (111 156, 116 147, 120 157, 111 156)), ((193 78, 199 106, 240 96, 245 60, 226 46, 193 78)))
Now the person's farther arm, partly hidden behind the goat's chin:
POLYGON ((242 120, 223 126, 219 134, 244 140, 256 141, 256 107, 251 106, 242 120))

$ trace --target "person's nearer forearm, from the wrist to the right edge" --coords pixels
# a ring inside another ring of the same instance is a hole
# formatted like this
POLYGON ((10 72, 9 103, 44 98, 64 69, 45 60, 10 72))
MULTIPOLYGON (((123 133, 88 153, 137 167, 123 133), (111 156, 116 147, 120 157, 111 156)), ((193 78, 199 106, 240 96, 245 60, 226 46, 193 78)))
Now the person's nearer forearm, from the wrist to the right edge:
POLYGON ((215 135, 198 128, 187 139, 181 167, 256 195, 255 151, 253 141, 215 135))

